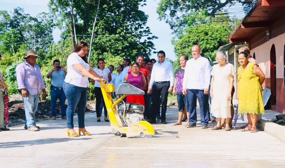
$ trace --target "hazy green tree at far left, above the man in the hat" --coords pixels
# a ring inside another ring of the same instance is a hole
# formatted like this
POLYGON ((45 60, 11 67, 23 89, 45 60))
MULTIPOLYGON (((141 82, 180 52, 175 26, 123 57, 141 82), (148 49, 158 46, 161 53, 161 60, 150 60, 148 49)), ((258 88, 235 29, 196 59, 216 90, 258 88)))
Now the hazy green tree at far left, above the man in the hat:
POLYGON ((22 8, 15 8, 11 15, 7 11, 0 11, 0 25, 0 44, 6 45, 0 46, 1 53, 16 53, 22 42, 26 41, 27 49, 36 47, 39 55, 45 55, 48 44, 53 41, 54 23, 49 14, 44 12, 31 17, 22 8), (10 43, 14 44, 7 45, 10 43))

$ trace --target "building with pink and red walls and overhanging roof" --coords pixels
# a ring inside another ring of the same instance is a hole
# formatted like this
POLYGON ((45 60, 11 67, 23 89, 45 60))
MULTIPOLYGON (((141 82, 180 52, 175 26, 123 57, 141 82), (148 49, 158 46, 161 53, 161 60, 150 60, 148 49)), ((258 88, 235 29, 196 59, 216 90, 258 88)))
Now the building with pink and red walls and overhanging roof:
POLYGON ((285 0, 258 1, 229 40, 248 43, 271 90, 269 107, 285 114, 285 0))

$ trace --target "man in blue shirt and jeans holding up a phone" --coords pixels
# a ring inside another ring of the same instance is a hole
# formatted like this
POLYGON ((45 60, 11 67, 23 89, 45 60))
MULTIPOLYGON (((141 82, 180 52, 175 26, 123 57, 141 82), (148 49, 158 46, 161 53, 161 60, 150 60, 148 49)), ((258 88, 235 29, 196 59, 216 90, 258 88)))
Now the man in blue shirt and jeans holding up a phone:
POLYGON ((65 93, 62 89, 64 79, 67 72, 64 67, 60 66, 60 61, 55 59, 53 61, 53 70, 47 73, 47 78, 51 78, 50 85, 50 117, 52 120, 56 120, 56 101, 59 99, 61 119, 66 119, 65 108, 65 93))

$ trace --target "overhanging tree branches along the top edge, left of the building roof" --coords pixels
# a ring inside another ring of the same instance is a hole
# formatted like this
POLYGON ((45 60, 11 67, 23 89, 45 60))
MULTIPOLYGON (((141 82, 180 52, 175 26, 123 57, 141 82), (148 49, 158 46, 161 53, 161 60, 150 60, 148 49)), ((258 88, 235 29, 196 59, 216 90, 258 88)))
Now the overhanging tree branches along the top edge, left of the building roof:
POLYGON ((165 20, 174 33, 178 33, 180 28, 186 26, 187 20, 184 18, 190 12, 206 9, 207 16, 215 17, 226 5, 230 7, 238 2, 245 6, 245 11, 249 11, 257 0, 160 0, 156 12, 160 20, 165 20))

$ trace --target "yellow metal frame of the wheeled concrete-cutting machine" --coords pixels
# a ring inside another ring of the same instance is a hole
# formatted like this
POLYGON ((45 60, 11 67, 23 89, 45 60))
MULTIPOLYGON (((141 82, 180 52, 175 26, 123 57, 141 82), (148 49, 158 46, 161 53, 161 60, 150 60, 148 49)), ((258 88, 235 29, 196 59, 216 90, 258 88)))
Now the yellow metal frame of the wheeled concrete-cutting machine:
POLYGON ((116 105, 123 101, 127 95, 120 97, 115 103, 111 97, 111 92, 115 91, 113 84, 104 84, 99 82, 101 86, 102 95, 105 101, 107 112, 110 119, 111 133, 116 136, 126 137, 152 137, 154 135, 153 126, 146 121, 138 121, 134 124, 126 125, 122 123, 120 116, 116 110, 116 105))

